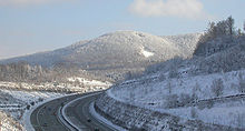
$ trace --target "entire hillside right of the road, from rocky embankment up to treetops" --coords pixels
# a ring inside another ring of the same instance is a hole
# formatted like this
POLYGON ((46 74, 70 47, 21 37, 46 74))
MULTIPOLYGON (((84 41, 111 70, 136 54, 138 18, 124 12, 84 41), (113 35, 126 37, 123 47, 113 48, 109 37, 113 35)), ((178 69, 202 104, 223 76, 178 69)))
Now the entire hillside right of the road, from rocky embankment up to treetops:
POLYGON ((193 51, 187 59, 128 74, 97 100, 96 110, 128 130, 244 130, 245 34, 229 17, 212 22, 196 46, 180 48, 193 51))

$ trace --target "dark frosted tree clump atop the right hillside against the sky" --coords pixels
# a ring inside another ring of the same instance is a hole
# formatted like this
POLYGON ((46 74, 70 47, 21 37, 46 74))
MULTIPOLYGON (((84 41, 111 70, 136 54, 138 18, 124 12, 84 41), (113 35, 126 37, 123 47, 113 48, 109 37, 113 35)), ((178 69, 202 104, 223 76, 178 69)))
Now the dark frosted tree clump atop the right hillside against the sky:
POLYGON ((226 20, 209 22, 207 30, 197 43, 194 56, 207 57, 231 48, 239 42, 241 37, 244 37, 244 32, 235 28, 235 20, 232 16, 226 20))

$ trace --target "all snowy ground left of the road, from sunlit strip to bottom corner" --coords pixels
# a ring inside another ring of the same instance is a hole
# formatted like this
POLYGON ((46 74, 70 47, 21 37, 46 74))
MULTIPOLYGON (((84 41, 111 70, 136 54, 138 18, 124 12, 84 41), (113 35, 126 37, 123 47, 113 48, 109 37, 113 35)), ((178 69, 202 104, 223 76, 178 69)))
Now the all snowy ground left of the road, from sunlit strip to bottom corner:
POLYGON ((68 80, 70 81, 70 83, 33 84, 23 82, 0 82, 0 111, 2 112, 0 119, 8 121, 4 122, 6 128, 2 130, 16 130, 16 125, 22 127, 21 130, 31 130, 29 117, 33 109, 43 102, 67 95, 67 90, 82 93, 89 91, 105 90, 110 87, 109 82, 101 82, 96 80, 89 81, 84 78, 74 77, 69 78, 68 80), (46 91, 43 89, 52 90, 46 91), (62 92, 62 90, 60 89, 66 90, 63 90, 65 92, 62 92))

